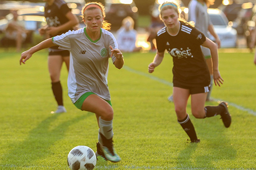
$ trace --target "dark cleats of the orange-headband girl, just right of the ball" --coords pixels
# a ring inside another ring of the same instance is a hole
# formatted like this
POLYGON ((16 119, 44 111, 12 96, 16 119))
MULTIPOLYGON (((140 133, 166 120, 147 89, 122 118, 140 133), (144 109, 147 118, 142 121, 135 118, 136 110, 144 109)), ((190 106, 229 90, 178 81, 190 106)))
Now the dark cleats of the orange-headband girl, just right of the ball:
POLYGON ((106 139, 104 135, 100 133, 103 145, 99 142, 97 143, 97 152, 96 157, 102 156, 106 160, 109 160, 111 162, 119 162, 121 161, 120 156, 116 153, 116 150, 113 146, 113 140, 112 139, 106 139))

